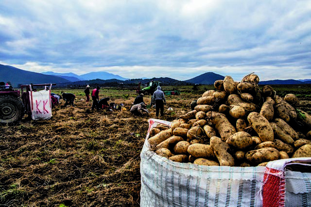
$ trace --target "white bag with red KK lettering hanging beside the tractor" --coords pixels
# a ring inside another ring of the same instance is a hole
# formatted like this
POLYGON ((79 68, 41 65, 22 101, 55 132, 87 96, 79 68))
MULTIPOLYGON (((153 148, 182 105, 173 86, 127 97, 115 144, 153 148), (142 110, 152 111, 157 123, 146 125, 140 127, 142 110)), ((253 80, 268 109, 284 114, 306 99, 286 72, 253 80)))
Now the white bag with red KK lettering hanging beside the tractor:
POLYGON ((49 90, 29 91, 32 119, 51 119, 51 87, 49 90))

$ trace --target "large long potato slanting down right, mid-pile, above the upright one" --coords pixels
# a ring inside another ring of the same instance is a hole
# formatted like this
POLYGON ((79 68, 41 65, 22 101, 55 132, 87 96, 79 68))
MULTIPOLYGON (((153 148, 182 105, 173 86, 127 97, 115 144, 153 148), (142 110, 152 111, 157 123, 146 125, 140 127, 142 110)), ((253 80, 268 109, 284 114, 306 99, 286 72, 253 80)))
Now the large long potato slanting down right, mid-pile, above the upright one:
POLYGON ((224 141, 226 141, 232 134, 236 133, 235 128, 231 125, 224 114, 208 111, 207 117, 209 117, 209 121, 215 125, 215 128, 218 130, 224 141))

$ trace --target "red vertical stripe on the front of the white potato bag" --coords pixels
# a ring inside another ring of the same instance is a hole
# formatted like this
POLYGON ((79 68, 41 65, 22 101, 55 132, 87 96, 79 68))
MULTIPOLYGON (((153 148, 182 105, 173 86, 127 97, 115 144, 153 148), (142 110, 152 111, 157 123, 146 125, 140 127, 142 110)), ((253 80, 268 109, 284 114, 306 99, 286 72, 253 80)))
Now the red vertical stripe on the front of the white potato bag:
POLYGON ((283 171, 266 168, 263 176, 262 207, 285 207, 283 171))

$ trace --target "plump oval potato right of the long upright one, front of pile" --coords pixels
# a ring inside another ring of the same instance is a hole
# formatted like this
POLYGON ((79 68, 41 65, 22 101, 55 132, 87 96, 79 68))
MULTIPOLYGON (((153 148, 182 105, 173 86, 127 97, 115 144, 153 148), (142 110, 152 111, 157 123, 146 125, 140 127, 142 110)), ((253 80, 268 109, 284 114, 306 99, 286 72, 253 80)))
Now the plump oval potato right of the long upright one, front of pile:
POLYGON ((253 144, 252 136, 245 131, 234 133, 225 142, 236 149, 246 149, 253 144))

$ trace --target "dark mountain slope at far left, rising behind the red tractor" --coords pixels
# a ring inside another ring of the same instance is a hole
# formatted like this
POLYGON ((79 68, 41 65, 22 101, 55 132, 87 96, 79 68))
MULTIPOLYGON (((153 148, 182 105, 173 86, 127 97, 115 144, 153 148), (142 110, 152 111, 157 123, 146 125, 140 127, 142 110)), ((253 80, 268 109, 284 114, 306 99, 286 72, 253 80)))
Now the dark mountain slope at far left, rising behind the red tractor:
POLYGON ((57 77, 44 75, 41 73, 21 70, 13 66, 0 64, 0 81, 10 81, 12 86, 17 88, 18 84, 41 84, 41 83, 64 83, 69 80, 57 77))

